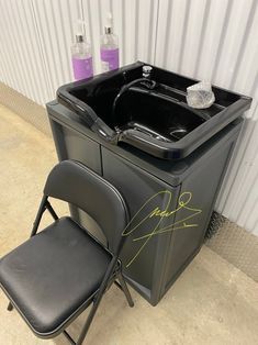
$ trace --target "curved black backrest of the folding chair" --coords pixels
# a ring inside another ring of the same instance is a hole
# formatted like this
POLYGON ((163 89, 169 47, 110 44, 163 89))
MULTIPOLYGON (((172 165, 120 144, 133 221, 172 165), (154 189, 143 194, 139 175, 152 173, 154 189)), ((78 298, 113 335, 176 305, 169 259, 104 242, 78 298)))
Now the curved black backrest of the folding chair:
POLYGON ((87 212, 117 254, 128 211, 121 193, 98 174, 76 160, 63 160, 49 172, 44 194, 67 201, 87 212))

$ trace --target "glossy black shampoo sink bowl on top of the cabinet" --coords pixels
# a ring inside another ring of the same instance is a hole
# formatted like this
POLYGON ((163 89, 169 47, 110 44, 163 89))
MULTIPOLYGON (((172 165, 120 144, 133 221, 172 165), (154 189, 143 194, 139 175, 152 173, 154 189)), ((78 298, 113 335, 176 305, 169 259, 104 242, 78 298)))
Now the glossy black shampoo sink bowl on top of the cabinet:
POLYGON ((57 100, 72 110, 99 140, 126 143, 155 157, 181 159, 250 108, 251 98, 212 87, 207 109, 187 104, 187 88, 198 80, 142 62, 57 90, 57 100), (150 66, 150 65, 148 65, 150 66))

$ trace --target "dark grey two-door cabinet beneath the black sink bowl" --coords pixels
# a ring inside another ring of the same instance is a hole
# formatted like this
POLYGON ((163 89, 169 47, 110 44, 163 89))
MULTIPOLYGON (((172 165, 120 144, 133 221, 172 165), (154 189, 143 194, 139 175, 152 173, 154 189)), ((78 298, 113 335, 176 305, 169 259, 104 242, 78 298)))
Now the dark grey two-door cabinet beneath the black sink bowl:
MULTIPOLYGON (((82 162, 125 198, 132 223, 125 230, 124 275, 157 304, 203 244, 243 120, 225 126, 184 159, 169 162, 99 140, 59 103, 48 103, 47 111, 59 160, 82 162)), ((93 220, 81 211, 71 212, 104 238, 93 220)))

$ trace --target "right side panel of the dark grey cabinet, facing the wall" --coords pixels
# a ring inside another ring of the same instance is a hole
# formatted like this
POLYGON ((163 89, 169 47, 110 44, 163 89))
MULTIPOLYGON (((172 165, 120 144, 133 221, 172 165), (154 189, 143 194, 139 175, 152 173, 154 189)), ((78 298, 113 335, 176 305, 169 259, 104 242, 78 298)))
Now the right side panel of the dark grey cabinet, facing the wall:
POLYGON ((231 156, 232 143, 224 145, 223 151, 213 152, 210 157, 200 160, 200 165, 182 182, 180 197, 187 202, 175 220, 170 253, 165 274, 165 290, 188 266, 200 251, 211 219, 226 167, 231 156))

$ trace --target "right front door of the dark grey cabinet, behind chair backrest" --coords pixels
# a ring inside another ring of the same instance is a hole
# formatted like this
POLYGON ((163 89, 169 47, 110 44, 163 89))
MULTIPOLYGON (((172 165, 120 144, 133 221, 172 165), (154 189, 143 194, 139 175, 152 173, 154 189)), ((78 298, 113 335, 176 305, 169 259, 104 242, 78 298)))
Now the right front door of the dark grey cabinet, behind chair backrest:
POLYGON ((131 214, 122 252, 123 270, 150 303, 156 304, 162 286, 169 251, 178 188, 165 183, 147 171, 102 148, 103 177, 123 194, 131 214), (161 212, 170 212, 161 216, 161 212), (161 227, 168 227, 160 232, 161 227))

